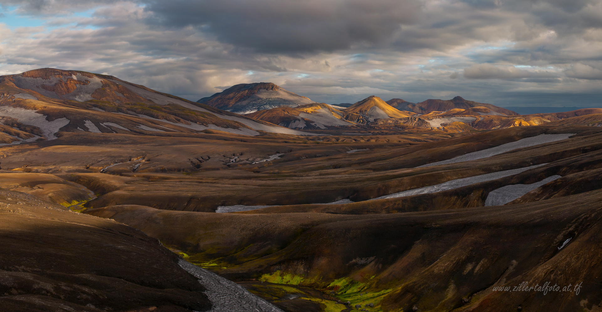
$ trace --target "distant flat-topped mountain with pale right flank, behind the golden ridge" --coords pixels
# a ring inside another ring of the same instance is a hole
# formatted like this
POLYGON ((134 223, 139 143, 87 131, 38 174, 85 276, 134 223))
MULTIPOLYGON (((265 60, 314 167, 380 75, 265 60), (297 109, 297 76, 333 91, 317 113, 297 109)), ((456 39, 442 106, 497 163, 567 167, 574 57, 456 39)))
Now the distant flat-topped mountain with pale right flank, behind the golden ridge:
POLYGON ((233 85, 213 96, 203 97, 197 103, 237 114, 249 114, 281 106, 297 107, 314 101, 284 90, 271 82, 256 82, 233 85))

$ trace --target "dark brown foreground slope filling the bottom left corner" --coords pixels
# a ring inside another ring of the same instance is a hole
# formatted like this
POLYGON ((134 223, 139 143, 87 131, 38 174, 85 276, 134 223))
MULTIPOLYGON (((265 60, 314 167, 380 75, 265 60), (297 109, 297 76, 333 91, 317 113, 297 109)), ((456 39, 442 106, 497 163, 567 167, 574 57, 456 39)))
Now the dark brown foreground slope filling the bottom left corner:
POLYGON ((134 228, 5 189, 0 216, 2 311, 211 308, 179 257, 134 228))

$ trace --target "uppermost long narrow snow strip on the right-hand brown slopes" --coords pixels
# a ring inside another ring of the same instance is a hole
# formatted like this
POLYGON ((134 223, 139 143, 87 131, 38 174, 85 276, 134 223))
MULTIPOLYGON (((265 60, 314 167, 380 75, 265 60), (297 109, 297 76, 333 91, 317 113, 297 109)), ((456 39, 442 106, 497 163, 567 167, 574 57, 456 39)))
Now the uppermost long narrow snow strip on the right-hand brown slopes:
POLYGON ((562 134, 541 134, 538 136, 531 136, 530 138, 520 139, 518 141, 502 144, 496 147, 487 148, 485 150, 473 151, 472 153, 457 156, 447 161, 432 162, 430 164, 421 165, 416 168, 430 167, 436 165, 447 165, 455 164, 456 162, 475 161, 477 159, 488 158, 497 154, 506 153, 506 151, 516 150, 517 148, 530 147, 539 144, 545 144, 550 142, 556 142, 563 139, 568 139, 569 136, 575 133, 562 133, 562 134))

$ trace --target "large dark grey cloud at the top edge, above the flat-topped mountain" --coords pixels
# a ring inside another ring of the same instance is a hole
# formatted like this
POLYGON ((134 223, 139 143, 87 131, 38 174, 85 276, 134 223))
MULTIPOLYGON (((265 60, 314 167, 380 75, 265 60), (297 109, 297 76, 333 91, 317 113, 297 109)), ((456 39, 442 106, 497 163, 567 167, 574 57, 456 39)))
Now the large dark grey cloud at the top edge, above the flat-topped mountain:
POLYGON ((152 21, 196 26, 262 52, 315 52, 385 43, 420 13, 418 0, 155 0, 152 21))

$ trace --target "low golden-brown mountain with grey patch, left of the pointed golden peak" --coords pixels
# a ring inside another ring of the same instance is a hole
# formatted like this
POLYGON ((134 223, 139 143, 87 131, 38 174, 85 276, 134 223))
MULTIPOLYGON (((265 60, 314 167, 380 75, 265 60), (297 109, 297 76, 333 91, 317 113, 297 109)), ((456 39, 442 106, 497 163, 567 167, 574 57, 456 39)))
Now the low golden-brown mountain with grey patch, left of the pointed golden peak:
POLYGON ((325 103, 311 103, 296 108, 278 107, 246 115, 291 129, 326 129, 365 123, 361 115, 340 111, 325 103))

